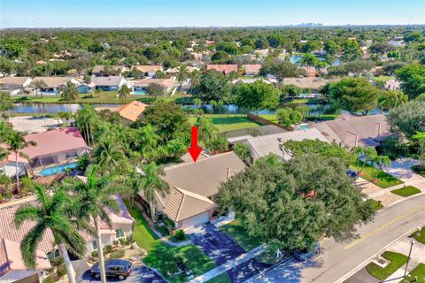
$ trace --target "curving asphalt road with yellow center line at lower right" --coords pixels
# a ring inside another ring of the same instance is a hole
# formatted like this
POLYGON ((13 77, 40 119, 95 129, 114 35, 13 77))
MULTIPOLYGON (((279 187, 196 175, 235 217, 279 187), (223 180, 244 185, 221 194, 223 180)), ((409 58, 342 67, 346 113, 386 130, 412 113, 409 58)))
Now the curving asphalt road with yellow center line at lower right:
POLYGON ((353 270, 393 241, 425 224, 425 195, 397 203, 379 211, 373 222, 358 228, 359 238, 349 242, 328 239, 321 243, 322 252, 307 263, 291 260, 267 271, 249 282, 342 282, 353 270))

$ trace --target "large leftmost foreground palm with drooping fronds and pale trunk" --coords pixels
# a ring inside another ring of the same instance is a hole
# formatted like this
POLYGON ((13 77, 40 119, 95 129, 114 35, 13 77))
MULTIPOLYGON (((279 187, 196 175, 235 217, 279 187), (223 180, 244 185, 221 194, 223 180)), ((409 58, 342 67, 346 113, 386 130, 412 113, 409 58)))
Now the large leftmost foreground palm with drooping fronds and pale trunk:
POLYGON ((61 189, 53 195, 49 195, 38 184, 35 184, 34 191, 38 200, 37 204, 20 206, 15 212, 14 218, 14 224, 18 228, 27 220, 35 222, 35 226, 20 243, 24 262, 28 268, 36 267, 37 246, 42 241, 44 233, 50 230, 54 236, 54 243, 58 245, 60 254, 64 257, 68 281, 75 283, 75 271, 66 249, 70 249, 75 255, 84 255, 86 246, 76 228, 80 221, 71 220, 67 215, 66 207, 69 207, 69 195, 61 189))

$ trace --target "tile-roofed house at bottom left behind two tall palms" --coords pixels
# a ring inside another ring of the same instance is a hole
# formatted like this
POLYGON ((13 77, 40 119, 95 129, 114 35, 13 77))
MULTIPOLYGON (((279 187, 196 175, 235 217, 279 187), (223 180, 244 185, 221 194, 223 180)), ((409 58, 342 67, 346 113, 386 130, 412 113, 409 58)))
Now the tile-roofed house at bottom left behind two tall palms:
MULTIPOLYGON (((101 223, 101 239, 104 245, 112 245, 113 241, 119 238, 127 237, 133 233, 133 218, 120 196, 116 196, 120 211, 118 213, 108 212, 112 220, 112 229, 105 223, 101 223)), ((26 220, 18 229, 11 225, 15 217, 16 210, 21 205, 34 204, 37 201, 27 200, 20 203, 6 203, 0 206, 0 282, 15 282, 19 279, 26 279, 25 282, 38 282, 38 279, 44 279, 45 270, 49 269, 49 258, 57 257, 60 252, 54 243, 54 237, 50 230, 47 230, 42 235, 42 240, 38 243, 35 253, 35 269, 28 270, 24 264, 20 251, 20 243, 25 235, 35 226, 35 222, 26 220), (32 281, 31 279, 35 279, 32 281)), ((95 238, 88 233, 81 233, 86 241, 87 255, 90 255, 93 250, 97 249, 95 238)), ((22 281, 23 282, 23 281, 22 281)))

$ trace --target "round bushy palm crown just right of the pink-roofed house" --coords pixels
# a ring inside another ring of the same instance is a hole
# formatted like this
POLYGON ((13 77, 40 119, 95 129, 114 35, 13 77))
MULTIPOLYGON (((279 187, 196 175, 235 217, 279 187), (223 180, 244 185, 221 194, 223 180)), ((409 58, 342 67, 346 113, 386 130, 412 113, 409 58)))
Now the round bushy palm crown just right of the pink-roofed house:
POLYGON ((112 172, 119 169, 125 156, 120 142, 112 141, 111 138, 104 138, 98 142, 93 157, 100 168, 112 172))

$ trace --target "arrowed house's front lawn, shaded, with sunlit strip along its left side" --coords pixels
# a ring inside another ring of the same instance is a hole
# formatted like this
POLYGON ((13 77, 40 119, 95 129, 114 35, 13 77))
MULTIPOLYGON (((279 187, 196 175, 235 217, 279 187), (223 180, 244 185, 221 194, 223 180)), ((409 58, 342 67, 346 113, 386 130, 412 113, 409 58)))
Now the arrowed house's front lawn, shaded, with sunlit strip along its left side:
MULTIPOLYGON (((143 258, 143 263, 155 268, 170 282, 184 282, 186 278, 182 276, 172 277, 170 271, 174 268, 174 256, 183 254, 188 262, 186 266, 193 272, 195 277, 208 272, 216 267, 216 264, 205 253, 198 249, 197 246, 191 244, 184 247, 173 247, 162 241, 151 231, 148 223, 143 218, 143 214, 135 207, 131 208, 128 201, 124 201, 131 216, 135 218, 135 227, 133 233, 135 241, 140 248, 148 251, 148 256, 143 258)), ((228 274, 224 273, 218 277, 220 281, 217 283, 228 283, 228 274)))

